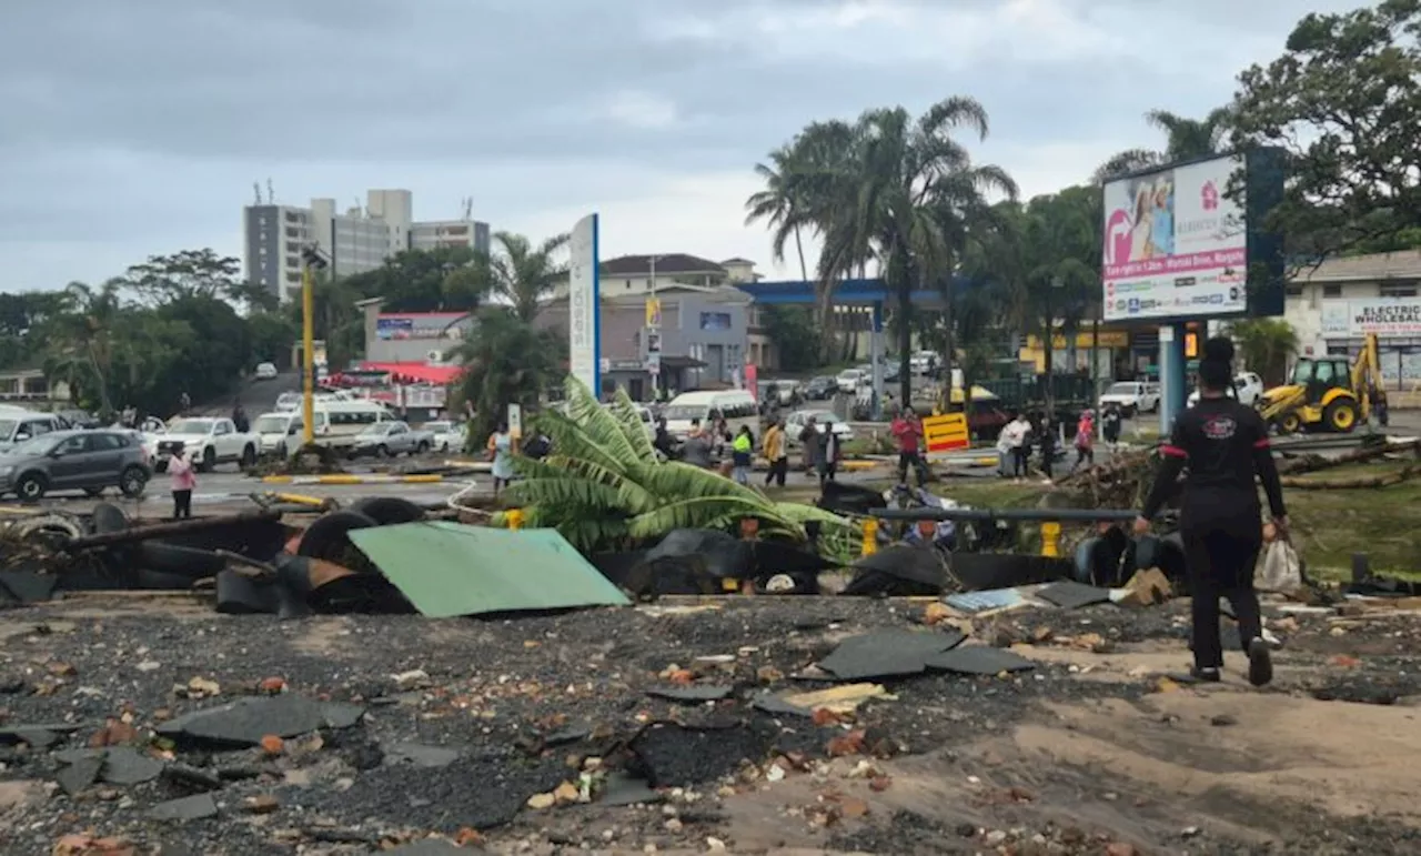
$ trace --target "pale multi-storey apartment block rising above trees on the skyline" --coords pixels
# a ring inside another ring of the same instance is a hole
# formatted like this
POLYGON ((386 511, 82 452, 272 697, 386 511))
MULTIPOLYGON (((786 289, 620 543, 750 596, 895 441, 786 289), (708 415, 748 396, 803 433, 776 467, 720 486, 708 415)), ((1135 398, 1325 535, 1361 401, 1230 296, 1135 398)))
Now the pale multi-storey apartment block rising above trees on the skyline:
POLYGON ((357 200, 344 210, 330 198, 311 199, 307 208, 267 199, 244 206, 243 228, 247 279, 283 301, 300 294, 301 247, 307 245, 330 259, 328 276, 374 270, 406 249, 489 249, 487 223, 468 218, 416 222, 414 193, 402 189, 367 191, 364 206, 357 200))

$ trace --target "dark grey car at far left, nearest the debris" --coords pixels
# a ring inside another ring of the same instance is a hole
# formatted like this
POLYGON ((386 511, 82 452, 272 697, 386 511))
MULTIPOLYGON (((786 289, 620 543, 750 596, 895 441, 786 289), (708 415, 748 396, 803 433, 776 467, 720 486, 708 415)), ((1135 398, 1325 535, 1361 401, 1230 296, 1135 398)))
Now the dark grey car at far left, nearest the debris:
POLYGON ((142 495, 151 476, 148 454, 135 431, 53 431, 0 454, 0 493, 14 493, 24 502, 54 491, 98 496, 105 488, 134 498, 142 495))

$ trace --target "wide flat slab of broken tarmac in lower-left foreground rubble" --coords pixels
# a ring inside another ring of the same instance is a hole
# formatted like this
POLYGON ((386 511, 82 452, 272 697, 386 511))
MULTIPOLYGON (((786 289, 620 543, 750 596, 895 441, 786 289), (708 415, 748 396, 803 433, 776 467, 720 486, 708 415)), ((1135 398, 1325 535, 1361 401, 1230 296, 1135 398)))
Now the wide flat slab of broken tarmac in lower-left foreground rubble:
POLYGON ((365 708, 338 701, 313 701, 303 695, 283 694, 242 698, 219 707, 175 717, 155 729, 173 741, 213 747, 257 747, 261 738, 310 734, 323 728, 351 728, 365 715, 365 708))

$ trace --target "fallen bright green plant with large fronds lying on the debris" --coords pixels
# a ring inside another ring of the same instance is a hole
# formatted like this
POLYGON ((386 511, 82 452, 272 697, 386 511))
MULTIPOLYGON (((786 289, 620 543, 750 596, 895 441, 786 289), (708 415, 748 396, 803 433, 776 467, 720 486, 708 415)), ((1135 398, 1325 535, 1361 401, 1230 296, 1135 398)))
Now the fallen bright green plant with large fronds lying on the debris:
POLYGON ((664 462, 624 391, 611 407, 576 378, 567 378, 566 391, 566 412, 544 411, 536 422, 553 441, 551 454, 541 461, 514 456, 523 478, 506 496, 527 526, 556 528, 587 555, 647 545, 672 529, 732 530, 745 518, 759 520, 760 537, 804 542, 804 525, 814 520, 820 549, 853 560, 860 536, 844 518, 772 502, 716 472, 664 462))

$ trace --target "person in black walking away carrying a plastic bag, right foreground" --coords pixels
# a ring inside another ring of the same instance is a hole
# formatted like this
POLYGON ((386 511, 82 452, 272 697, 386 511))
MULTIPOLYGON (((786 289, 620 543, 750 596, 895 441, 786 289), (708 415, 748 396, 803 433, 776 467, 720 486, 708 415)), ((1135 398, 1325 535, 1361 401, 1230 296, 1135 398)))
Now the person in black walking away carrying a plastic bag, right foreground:
POLYGON ((1164 508, 1179 472, 1188 466, 1179 502, 1179 532, 1192 597, 1191 674, 1201 681, 1219 680, 1223 667, 1219 597, 1223 596, 1238 617, 1239 640, 1249 663, 1248 680, 1262 687, 1273 680, 1273 663, 1253 589, 1253 566, 1263 546, 1263 513, 1253 478, 1263 482, 1280 537, 1287 533, 1287 509, 1269 448, 1268 425, 1258 411, 1229 397, 1232 377, 1233 343, 1225 337, 1205 341, 1199 360, 1199 404, 1175 418, 1169 442, 1160 446, 1162 466, 1135 518, 1134 532, 1140 536, 1150 530, 1150 520, 1164 508))

